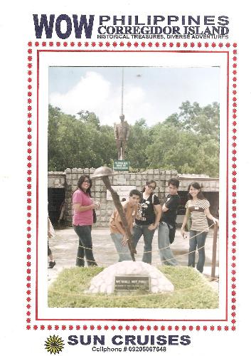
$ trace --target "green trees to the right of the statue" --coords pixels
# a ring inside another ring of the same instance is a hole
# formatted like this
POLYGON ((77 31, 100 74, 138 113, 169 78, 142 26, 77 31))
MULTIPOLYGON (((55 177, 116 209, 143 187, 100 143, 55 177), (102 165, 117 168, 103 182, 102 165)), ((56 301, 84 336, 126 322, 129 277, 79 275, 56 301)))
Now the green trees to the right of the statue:
POLYGON ((182 103, 173 114, 152 127, 151 145, 146 149, 149 167, 176 169, 179 173, 218 176, 219 105, 201 108, 182 103))

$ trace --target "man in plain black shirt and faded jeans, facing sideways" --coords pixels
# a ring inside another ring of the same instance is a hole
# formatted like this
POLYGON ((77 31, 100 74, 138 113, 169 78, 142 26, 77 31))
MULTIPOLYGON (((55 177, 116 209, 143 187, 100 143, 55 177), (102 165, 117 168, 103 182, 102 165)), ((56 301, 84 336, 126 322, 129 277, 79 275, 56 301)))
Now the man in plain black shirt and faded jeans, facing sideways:
POLYGON ((178 196, 178 179, 169 179, 169 194, 162 206, 162 216, 158 229, 159 256, 165 265, 177 266, 178 262, 170 248, 170 240, 173 242, 176 229, 176 216, 181 198, 178 196))

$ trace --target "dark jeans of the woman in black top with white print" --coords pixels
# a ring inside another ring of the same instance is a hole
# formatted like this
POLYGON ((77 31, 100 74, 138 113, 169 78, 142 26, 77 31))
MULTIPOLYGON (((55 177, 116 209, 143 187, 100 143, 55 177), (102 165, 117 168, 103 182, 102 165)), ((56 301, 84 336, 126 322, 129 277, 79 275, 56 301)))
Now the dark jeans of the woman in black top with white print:
POLYGON ((134 234, 133 234, 133 241, 134 241, 134 247, 136 248, 139 239, 143 235, 144 237, 144 254, 142 261, 145 263, 151 263, 151 244, 152 244, 152 239, 154 237, 154 231, 155 230, 149 230, 148 229, 149 225, 137 225, 135 224, 134 226, 134 234))

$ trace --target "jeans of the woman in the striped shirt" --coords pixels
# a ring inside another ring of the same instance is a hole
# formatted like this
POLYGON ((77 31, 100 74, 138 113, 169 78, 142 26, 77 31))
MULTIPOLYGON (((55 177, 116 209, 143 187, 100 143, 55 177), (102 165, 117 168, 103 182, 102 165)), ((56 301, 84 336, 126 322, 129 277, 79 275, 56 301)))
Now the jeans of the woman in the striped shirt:
POLYGON ((188 255, 188 266, 195 267, 196 264, 196 247, 198 248, 198 263, 196 268, 201 273, 203 272, 203 267, 205 264, 205 238, 208 231, 190 231, 189 239, 189 255, 188 255), (197 235, 198 234, 198 235, 197 235), (197 235, 196 237, 193 237, 197 235))

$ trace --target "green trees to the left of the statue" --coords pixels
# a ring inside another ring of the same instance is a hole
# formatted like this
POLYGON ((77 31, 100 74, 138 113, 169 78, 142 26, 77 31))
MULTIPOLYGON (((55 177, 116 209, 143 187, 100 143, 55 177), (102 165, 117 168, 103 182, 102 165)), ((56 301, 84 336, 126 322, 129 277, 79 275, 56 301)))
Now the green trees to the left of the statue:
POLYGON ((48 170, 111 164, 116 152, 113 129, 96 124, 92 120, 82 122, 49 105, 48 170))

